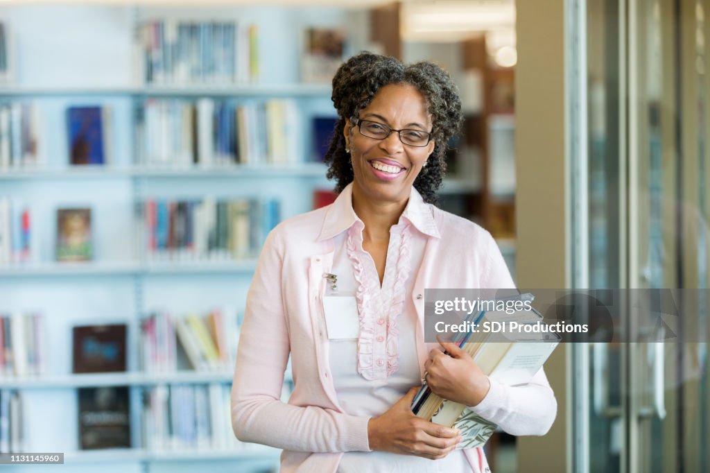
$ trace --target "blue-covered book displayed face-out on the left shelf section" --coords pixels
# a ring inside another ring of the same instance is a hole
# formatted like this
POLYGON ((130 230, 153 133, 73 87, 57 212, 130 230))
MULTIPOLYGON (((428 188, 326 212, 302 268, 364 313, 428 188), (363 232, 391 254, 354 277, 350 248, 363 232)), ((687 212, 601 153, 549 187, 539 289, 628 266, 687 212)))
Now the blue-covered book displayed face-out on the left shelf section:
POLYGON ((108 107, 69 107, 67 109, 67 141, 72 165, 109 163, 108 107))

